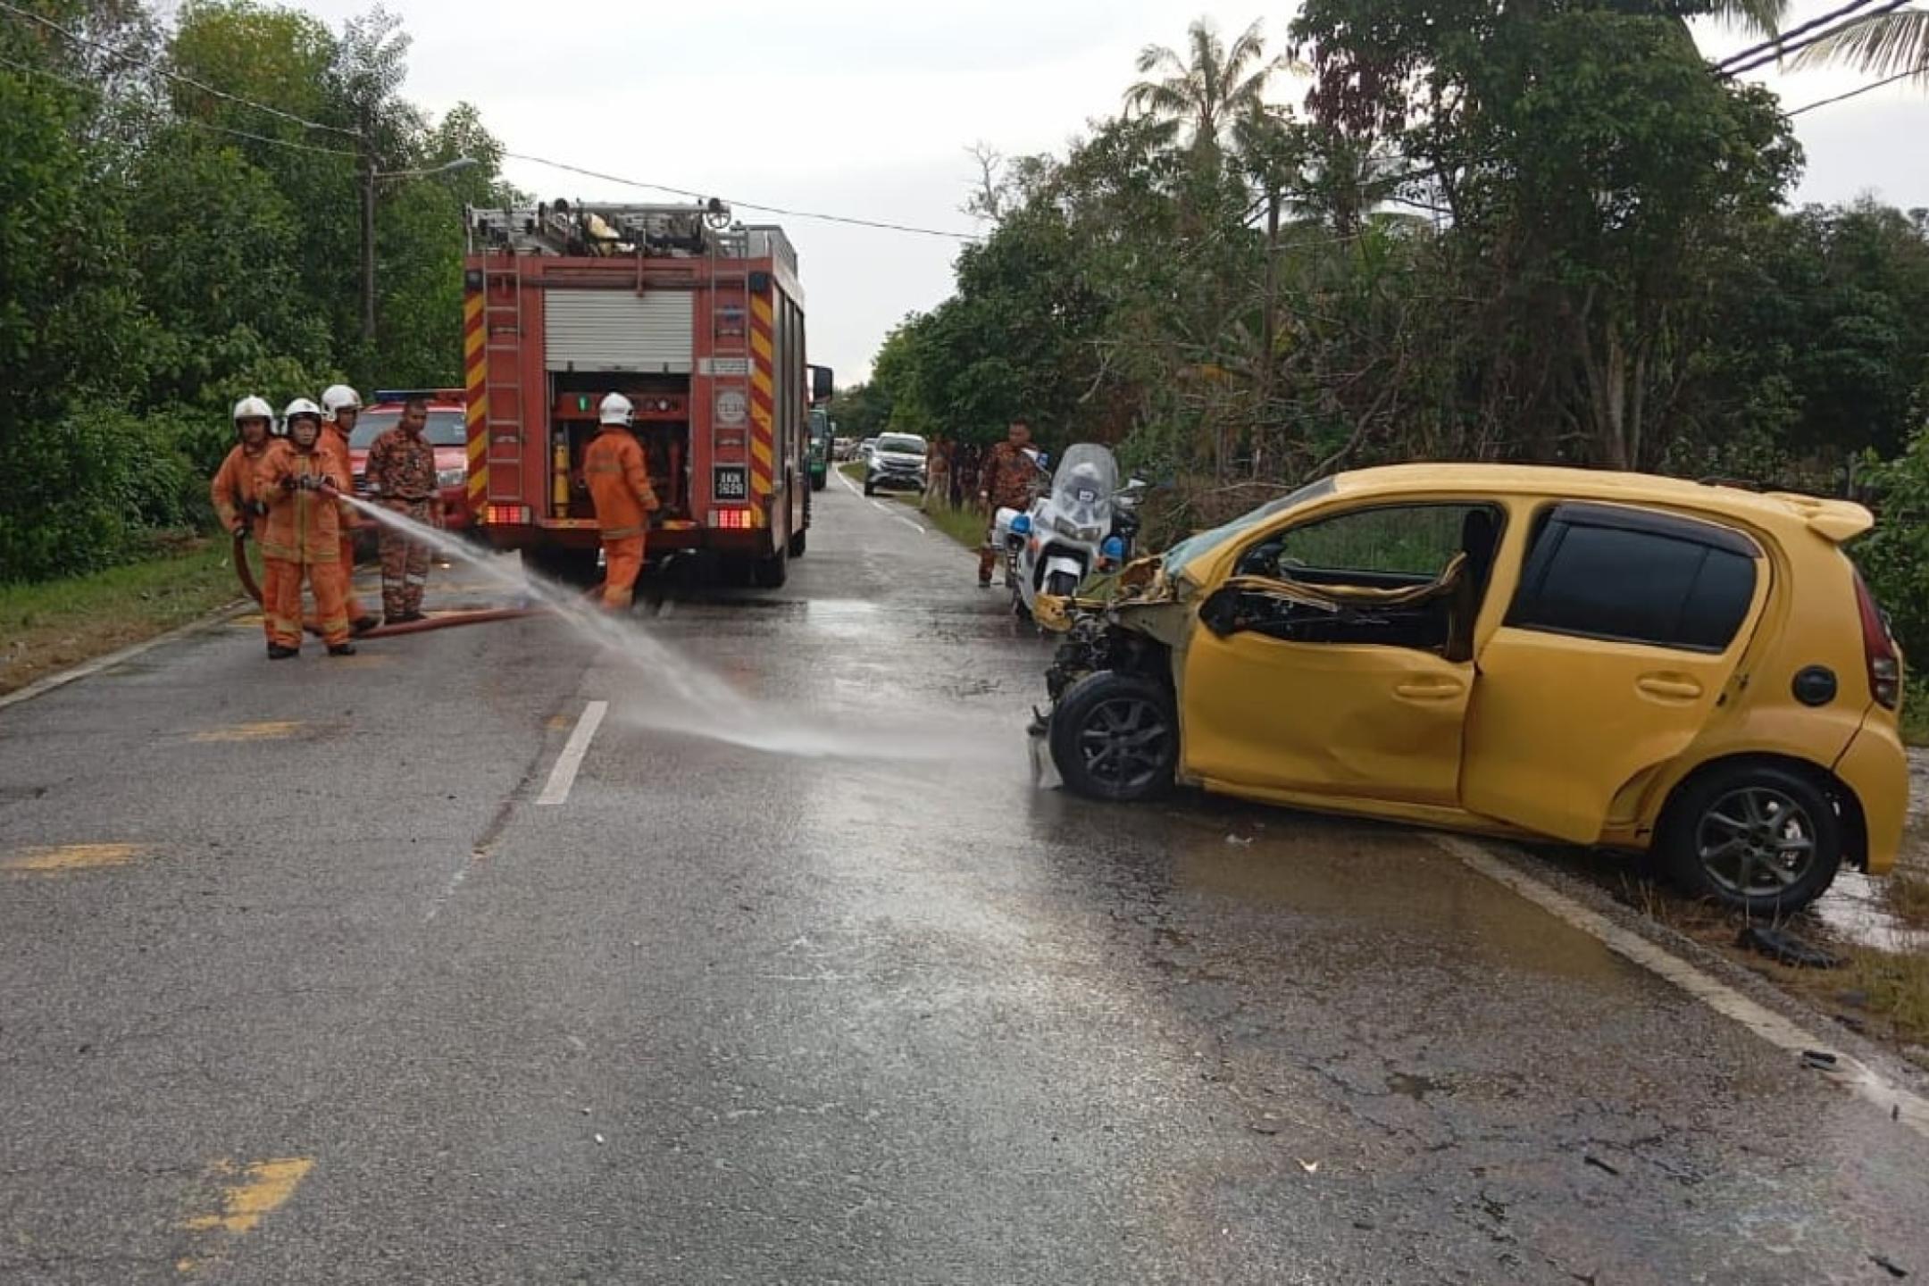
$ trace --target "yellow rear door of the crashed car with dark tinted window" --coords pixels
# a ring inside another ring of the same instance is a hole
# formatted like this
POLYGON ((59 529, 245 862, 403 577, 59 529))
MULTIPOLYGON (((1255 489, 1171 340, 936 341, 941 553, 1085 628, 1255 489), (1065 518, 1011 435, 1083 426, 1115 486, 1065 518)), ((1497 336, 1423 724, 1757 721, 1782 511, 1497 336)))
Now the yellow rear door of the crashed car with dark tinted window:
POLYGON ((1520 584, 1480 650, 1462 806, 1574 843, 1682 754, 1734 681, 1769 559, 1732 526, 1632 505, 1535 517, 1520 584))

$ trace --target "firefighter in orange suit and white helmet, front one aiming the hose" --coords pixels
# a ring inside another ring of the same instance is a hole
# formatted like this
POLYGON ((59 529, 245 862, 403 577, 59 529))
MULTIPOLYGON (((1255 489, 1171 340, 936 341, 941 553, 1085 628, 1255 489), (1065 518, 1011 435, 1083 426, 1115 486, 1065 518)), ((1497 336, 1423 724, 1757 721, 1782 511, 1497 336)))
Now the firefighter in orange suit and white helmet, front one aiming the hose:
POLYGON ((320 449, 322 409, 307 397, 287 403, 282 413, 287 436, 270 447, 257 470, 257 492, 268 501, 268 530, 260 551, 268 563, 262 586, 262 617, 268 627, 268 659, 282 661, 301 652, 301 582, 314 592, 314 615, 328 656, 355 656, 349 642, 349 613, 341 603, 341 509, 340 499, 322 492, 349 490, 347 474, 320 449))

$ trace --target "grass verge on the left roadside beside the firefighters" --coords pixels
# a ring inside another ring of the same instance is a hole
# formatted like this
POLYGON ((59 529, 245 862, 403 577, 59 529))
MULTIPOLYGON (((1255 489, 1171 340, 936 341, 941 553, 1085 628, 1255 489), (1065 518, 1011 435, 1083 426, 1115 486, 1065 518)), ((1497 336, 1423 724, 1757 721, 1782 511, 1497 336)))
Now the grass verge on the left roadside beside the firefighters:
POLYGON ((87 576, 0 584, 0 692, 187 625, 241 598, 226 540, 87 576))

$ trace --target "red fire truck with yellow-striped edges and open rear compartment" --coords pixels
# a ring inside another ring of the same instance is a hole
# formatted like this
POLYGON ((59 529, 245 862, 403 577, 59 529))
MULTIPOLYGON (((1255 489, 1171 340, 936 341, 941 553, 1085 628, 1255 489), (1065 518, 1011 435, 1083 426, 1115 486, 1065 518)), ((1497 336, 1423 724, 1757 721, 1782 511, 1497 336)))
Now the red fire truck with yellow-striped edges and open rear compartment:
POLYGON ((779 586, 810 530, 810 409, 797 251, 721 202, 467 212, 469 507, 544 571, 598 548, 583 451, 606 393, 635 405, 662 509, 652 561, 779 586))

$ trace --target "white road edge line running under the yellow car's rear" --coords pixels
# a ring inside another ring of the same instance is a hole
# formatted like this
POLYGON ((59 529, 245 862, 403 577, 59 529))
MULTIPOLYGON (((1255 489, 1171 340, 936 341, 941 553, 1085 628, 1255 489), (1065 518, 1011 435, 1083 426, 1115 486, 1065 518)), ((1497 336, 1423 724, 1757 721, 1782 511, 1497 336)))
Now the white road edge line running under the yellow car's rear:
POLYGON ((1474 868, 1487 879, 1507 885, 1541 910, 1551 912, 1588 937, 1597 939, 1617 956, 1632 960, 1665 981, 1674 983, 1723 1018, 1732 1018, 1771 1045, 1786 1049, 1796 1055, 1796 1058, 1802 1058, 1802 1055, 1811 1049, 1831 1055, 1834 1058, 1833 1064, 1815 1066, 1809 1062, 1807 1066, 1856 1097, 1873 1103, 1885 1116, 1892 1116, 1910 1130, 1929 1138, 1929 1099, 1923 1099, 1890 1082, 1860 1058, 1844 1055, 1842 1051, 1831 1047, 1831 1043, 1823 1037, 1806 1031, 1775 1010, 1750 1001, 1734 987, 1709 978, 1680 956, 1649 943, 1640 933, 1624 929, 1607 916, 1588 910, 1568 895, 1534 879, 1512 864, 1503 862, 1481 844, 1458 835, 1431 835, 1429 839, 1449 856, 1460 858, 1460 862, 1474 868))

